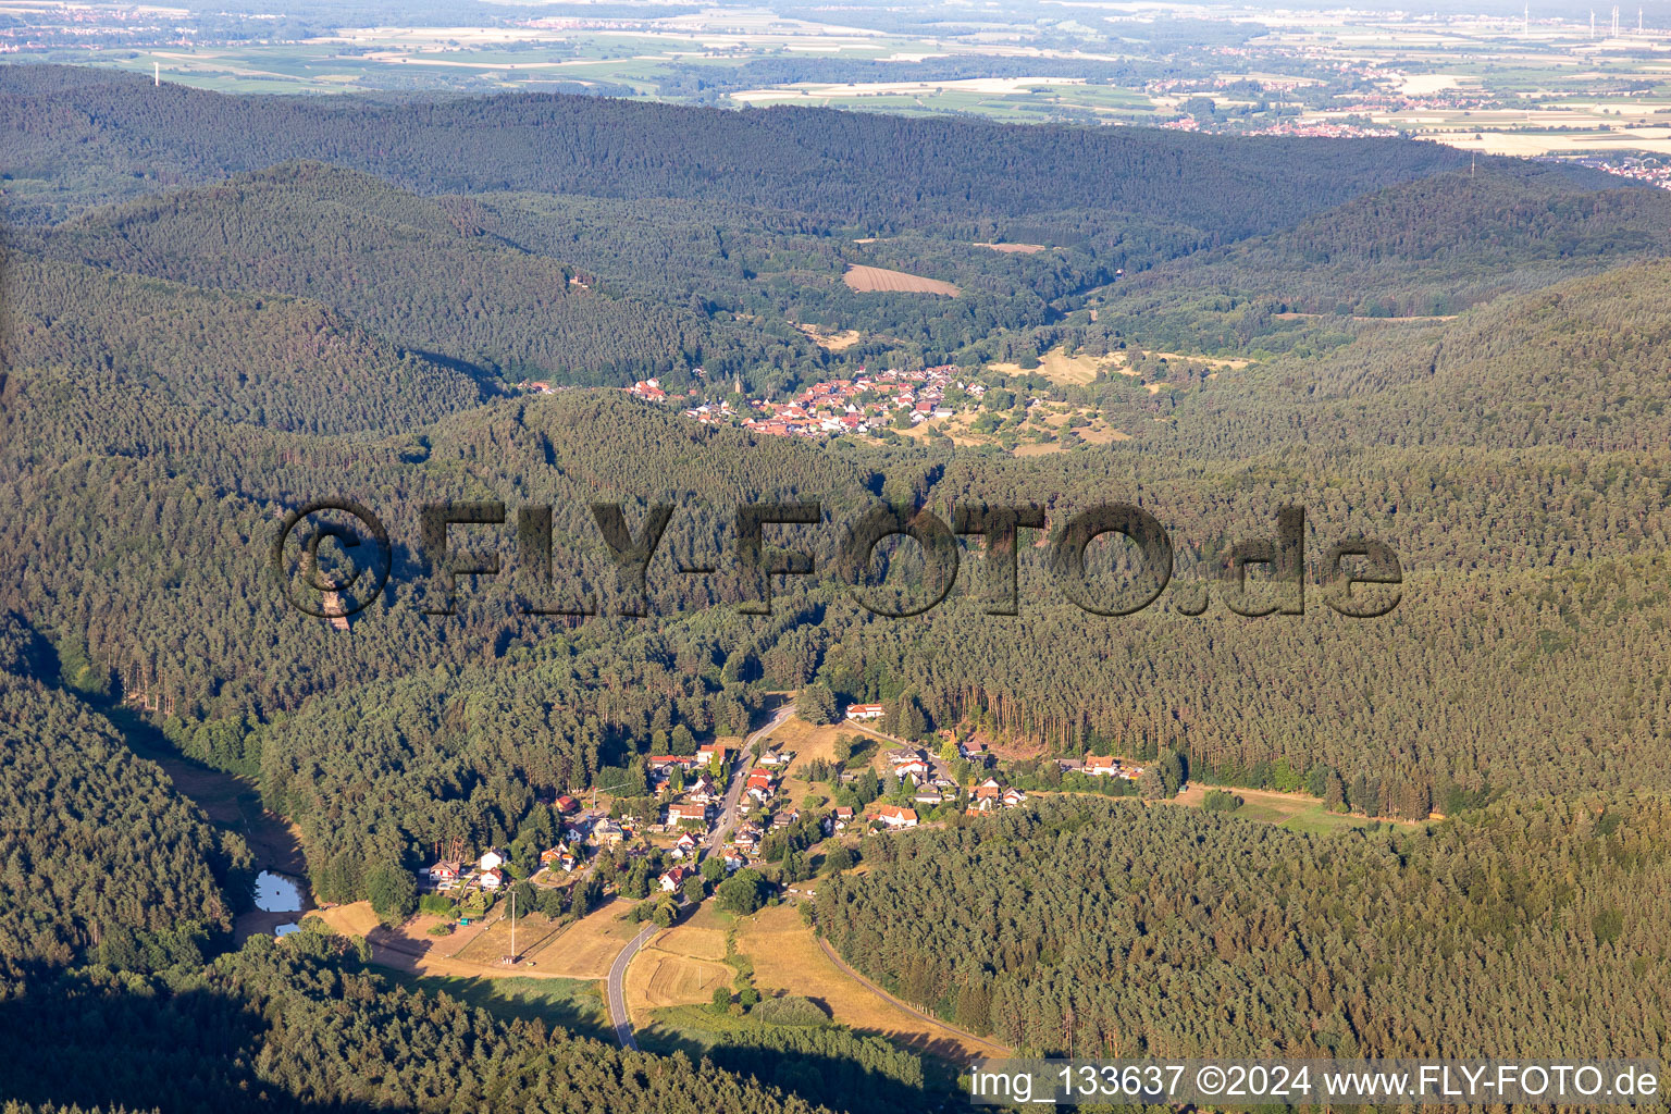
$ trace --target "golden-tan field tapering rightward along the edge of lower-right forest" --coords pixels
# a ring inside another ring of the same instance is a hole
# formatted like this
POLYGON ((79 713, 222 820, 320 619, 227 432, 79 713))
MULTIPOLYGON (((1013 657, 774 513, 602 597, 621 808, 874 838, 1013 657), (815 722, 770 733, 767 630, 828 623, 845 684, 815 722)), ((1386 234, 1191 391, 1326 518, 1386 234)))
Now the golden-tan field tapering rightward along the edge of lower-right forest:
POLYGON ((800 994, 844 1025, 946 1059, 994 1056, 994 1046, 971 1042, 954 1029, 916 1017, 854 980, 819 949, 812 929, 792 905, 762 909, 739 920, 737 950, 754 964, 754 982, 762 994, 800 994))

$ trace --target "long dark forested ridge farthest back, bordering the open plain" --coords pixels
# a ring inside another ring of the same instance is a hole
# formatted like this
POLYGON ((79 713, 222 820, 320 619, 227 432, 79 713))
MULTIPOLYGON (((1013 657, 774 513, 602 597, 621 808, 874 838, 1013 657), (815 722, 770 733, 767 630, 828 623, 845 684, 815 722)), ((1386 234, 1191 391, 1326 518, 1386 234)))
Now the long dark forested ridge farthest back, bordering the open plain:
POLYGON ((17 65, 0 68, 0 145, 13 177, 12 219, 321 159, 426 194, 717 199, 869 229, 1089 209, 1223 239, 1467 165, 1460 152, 1402 140, 1247 140, 563 95, 413 105, 227 97, 152 89, 135 75, 67 82, 53 68, 17 65))

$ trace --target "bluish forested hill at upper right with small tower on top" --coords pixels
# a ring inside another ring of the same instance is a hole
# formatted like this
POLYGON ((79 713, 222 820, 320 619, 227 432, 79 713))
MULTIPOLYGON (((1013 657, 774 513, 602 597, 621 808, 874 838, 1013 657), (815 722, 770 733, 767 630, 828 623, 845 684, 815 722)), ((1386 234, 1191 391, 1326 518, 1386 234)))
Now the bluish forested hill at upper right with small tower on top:
POLYGON ((1298 224, 1166 261, 1091 296, 1110 327, 1161 342, 1278 347, 1297 317, 1449 316, 1504 294, 1671 251, 1671 194, 1582 189, 1497 167, 1435 174, 1357 197, 1298 224), (1201 309, 1235 304, 1213 334, 1201 309))

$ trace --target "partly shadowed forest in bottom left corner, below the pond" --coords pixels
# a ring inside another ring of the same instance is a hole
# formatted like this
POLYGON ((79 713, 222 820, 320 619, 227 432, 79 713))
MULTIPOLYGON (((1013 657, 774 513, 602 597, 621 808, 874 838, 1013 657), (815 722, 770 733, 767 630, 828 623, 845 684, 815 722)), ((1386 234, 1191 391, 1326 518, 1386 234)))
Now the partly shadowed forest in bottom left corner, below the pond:
POLYGON ((40 1044, 25 1102, 271 1111, 815 1111, 709 1062, 623 1052, 391 987, 341 937, 251 940, 209 967, 69 972, 0 1002, 40 1044))

